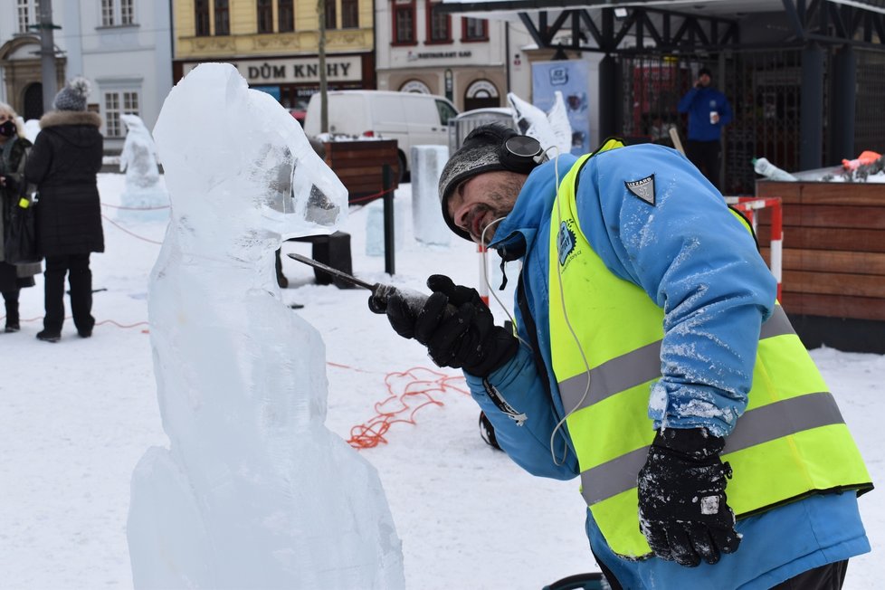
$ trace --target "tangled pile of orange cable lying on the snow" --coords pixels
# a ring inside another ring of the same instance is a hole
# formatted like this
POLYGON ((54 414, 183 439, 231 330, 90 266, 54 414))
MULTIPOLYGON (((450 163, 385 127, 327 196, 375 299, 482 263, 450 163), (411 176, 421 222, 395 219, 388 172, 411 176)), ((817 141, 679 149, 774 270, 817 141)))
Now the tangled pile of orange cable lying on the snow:
POLYGON ((427 405, 444 405, 434 394, 455 391, 462 395, 470 392, 452 385, 453 381, 463 381, 463 376, 451 376, 414 366, 407 371, 388 373, 385 385, 390 394, 385 400, 375 404, 375 417, 350 429, 347 443, 355 449, 371 449, 387 442, 385 434, 395 423, 416 425, 414 416, 427 405), (429 374, 422 376, 421 373, 429 374))

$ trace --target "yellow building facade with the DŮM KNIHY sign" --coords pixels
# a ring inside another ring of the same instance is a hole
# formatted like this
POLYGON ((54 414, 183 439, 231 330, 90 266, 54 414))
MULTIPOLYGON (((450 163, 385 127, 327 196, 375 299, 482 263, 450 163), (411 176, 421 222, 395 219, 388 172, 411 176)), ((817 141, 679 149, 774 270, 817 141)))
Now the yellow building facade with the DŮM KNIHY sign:
MULTIPOLYGON (((176 80, 201 62, 233 63, 287 109, 319 90, 316 0, 176 0, 176 80)), ((329 90, 376 88, 371 0, 326 0, 329 90)))

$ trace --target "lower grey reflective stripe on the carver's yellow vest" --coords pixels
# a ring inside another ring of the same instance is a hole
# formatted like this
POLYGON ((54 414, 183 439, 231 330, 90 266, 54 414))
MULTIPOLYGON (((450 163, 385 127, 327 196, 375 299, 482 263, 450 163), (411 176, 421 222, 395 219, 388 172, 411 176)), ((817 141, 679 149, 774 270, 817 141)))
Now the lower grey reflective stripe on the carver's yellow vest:
MULTIPOLYGON (((749 410, 742 415, 737 420, 735 430, 726 439, 723 454, 742 451, 787 434, 840 423, 844 423, 842 414, 829 392, 792 397, 749 410)), ((583 471, 581 493, 587 505, 635 488, 636 478, 645 464, 648 449, 648 446, 644 446, 583 471)))

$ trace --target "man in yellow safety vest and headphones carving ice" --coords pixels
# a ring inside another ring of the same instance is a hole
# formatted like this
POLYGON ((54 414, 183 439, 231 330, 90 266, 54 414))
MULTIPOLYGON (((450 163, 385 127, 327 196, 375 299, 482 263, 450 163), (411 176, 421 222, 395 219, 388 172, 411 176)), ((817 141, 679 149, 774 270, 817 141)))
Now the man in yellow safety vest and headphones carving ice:
POLYGON ((369 307, 463 370, 514 462, 580 477, 614 588, 840 588, 870 476, 747 224, 669 147, 545 159, 483 126, 440 178, 452 232, 522 262, 516 333, 442 275, 369 307))

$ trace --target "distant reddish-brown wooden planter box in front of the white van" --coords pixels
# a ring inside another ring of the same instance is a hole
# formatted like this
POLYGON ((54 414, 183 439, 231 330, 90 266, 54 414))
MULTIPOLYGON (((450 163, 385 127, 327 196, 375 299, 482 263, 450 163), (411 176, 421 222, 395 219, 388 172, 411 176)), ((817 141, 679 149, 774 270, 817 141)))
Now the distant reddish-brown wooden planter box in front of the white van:
POLYGON ((347 187, 351 205, 380 198, 384 190, 382 167, 391 167, 392 188, 399 186, 399 157, 395 139, 378 141, 330 141, 324 143, 328 167, 347 187))

